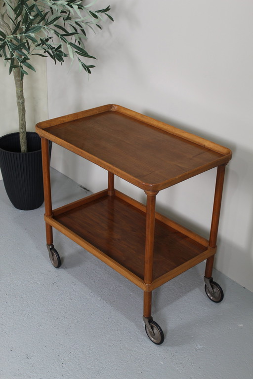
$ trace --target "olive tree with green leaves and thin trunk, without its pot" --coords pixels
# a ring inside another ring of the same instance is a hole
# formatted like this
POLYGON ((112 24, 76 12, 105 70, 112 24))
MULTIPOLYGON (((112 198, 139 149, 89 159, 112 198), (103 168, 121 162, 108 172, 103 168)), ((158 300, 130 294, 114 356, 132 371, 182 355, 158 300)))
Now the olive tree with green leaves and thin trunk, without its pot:
POLYGON ((84 47, 86 29, 99 28, 103 16, 111 21, 110 5, 91 10, 96 1, 85 0, 0 0, 0 57, 9 64, 16 86, 21 152, 27 152, 24 76, 36 71, 32 55, 50 57, 55 63, 66 57, 77 59, 81 69, 90 73, 93 58, 84 47))

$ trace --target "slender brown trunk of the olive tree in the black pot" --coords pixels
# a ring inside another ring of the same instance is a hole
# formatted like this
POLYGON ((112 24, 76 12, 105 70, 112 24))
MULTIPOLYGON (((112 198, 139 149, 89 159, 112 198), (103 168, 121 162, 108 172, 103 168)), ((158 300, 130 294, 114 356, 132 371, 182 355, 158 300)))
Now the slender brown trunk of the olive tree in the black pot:
POLYGON ((15 86, 16 86, 20 149, 21 149, 21 152, 27 152, 25 98, 24 98, 24 91, 23 91, 23 79, 21 79, 20 77, 20 69, 16 68, 15 70, 13 70, 13 75, 14 75, 15 86))

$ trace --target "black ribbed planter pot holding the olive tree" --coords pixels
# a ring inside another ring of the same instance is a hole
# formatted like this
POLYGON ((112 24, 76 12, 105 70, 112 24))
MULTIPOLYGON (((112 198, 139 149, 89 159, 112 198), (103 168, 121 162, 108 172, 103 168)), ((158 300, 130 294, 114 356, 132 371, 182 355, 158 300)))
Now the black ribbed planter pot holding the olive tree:
MULTIPOLYGON (((0 169, 7 195, 17 209, 39 208, 44 201, 41 138, 27 132, 28 152, 20 152, 19 133, 0 137, 0 169)), ((50 155, 52 143, 49 144, 50 155)))

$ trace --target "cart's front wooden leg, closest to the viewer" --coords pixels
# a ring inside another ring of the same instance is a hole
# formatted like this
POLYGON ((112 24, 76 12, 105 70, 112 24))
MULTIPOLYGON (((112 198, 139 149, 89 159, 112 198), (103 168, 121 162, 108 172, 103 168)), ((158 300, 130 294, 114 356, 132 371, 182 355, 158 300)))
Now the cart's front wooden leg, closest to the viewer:
MULTIPOLYGON (((145 265, 144 283, 150 284, 153 280, 153 249, 155 233, 155 211, 156 195, 158 192, 145 191, 147 195, 146 214, 146 245, 145 245, 145 265)), ((143 316, 151 317, 152 292, 144 292, 143 316)))

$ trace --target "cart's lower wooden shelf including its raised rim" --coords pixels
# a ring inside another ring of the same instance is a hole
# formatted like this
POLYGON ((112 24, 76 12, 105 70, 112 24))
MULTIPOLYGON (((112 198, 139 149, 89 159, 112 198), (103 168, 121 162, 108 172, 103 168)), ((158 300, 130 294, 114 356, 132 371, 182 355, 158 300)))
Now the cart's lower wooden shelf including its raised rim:
POLYGON ((117 190, 57 208, 45 221, 144 291, 215 254, 208 240, 156 213, 153 282, 145 284, 146 207, 117 190))

